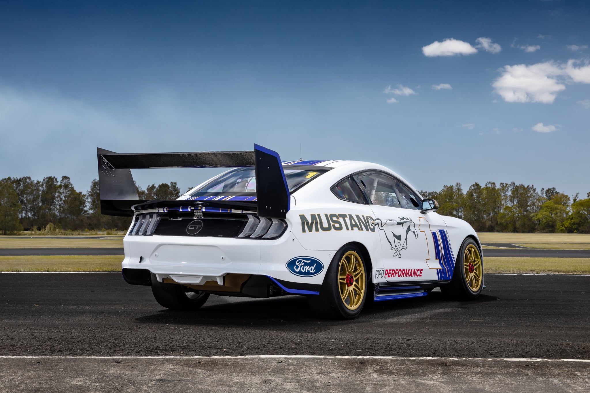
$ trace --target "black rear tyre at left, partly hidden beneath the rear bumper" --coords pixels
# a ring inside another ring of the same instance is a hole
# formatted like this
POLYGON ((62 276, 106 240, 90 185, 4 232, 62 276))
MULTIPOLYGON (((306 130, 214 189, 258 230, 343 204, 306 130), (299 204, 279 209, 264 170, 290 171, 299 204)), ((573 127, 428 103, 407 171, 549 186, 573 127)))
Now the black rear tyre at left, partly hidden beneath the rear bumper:
POLYGON ((152 293, 160 306, 171 310, 195 310, 207 302, 209 293, 191 289, 179 284, 158 282, 152 273, 152 293))

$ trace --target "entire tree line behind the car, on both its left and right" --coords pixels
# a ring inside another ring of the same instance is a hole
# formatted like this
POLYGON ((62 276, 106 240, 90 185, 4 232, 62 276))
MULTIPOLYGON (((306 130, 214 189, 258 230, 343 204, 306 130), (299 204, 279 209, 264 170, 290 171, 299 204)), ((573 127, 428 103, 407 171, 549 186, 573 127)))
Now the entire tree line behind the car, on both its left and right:
MULTIPOLYGON (((137 186, 137 184, 136 184, 137 186)), ((137 186, 142 200, 176 199, 181 190, 175 181, 137 186)), ((470 223, 478 232, 590 233, 590 193, 572 198, 555 187, 537 191, 535 186, 487 182, 461 183, 440 191, 421 191, 437 200, 438 212, 470 223)), ((0 180, 0 233, 22 230, 125 230, 129 217, 100 214, 99 181, 94 179, 86 192, 74 189, 70 178, 54 176, 32 180, 29 176, 0 180)))

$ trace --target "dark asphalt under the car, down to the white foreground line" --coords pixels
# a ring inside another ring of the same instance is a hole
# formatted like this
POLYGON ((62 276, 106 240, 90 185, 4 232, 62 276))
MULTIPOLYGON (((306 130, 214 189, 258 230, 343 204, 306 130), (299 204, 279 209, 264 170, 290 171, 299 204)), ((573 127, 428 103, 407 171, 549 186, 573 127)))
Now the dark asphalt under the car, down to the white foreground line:
POLYGON ((120 273, 1 273, 0 354, 590 359, 590 276, 486 275, 480 298, 379 302, 327 321, 303 296, 163 309, 120 273))

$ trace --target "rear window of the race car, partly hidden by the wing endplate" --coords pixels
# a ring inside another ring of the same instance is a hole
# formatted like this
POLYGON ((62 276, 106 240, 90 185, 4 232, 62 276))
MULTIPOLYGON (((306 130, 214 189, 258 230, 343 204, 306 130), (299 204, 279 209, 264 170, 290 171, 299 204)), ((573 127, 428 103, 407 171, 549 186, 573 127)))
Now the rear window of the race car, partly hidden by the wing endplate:
MULTIPOLYGON (((310 166, 289 166, 283 167, 285 179, 289 186, 289 192, 294 192, 304 184, 309 183, 322 173, 327 172, 330 168, 310 166)), ((208 197, 208 196, 255 196, 256 195, 256 176, 254 168, 238 168, 225 173, 205 186, 191 193, 191 197, 208 197)))

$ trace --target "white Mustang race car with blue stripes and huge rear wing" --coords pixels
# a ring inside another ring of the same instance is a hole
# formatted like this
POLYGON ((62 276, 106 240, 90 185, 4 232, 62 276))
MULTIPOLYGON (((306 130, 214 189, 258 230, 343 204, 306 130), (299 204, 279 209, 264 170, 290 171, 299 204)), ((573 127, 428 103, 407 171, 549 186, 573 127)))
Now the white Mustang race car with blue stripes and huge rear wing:
POLYGON ((393 171, 347 160, 281 161, 254 151, 119 154, 97 149, 103 214, 132 216, 123 278, 170 309, 211 293, 305 295, 328 318, 440 287, 476 298, 476 232, 393 171), (178 200, 138 200, 130 169, 230 167, 178 200))

